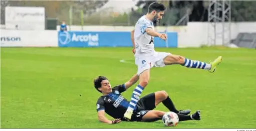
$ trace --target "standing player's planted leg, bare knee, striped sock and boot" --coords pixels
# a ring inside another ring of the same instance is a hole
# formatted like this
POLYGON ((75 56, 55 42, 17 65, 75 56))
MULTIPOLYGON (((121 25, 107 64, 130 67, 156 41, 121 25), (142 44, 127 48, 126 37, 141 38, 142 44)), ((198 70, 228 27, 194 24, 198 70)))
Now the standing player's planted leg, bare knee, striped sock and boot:
POLYGON ((149 75, 150 75, 149 71, 150 70, 147 69, 140 74, 139 85, 137 85, 136 88, 134 89, 129 107, 124 114, 124 118, 127 120, 131 120, 133 110, 140 99, 141 93, 143 92, 144 88, 148 84, 149 75))

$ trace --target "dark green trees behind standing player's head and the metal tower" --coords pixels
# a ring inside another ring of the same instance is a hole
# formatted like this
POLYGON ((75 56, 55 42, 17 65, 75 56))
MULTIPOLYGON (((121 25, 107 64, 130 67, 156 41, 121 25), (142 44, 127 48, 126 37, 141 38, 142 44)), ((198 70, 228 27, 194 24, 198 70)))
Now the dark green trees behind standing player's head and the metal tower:
MULTIPOLYGON (((189 21, 208 21, 209 0, 139 0, 136 6, 142 7, 138 10, 132 9, 131 21, 134 23, 141 15, 147 13, 150 3, 155 1, 162 2, 167 7, 160 25, 174 25, 186 13, 189 14, 189 21)), ((256 21, 255 11, 256 0, 231 1, 231 21, 256 21)))

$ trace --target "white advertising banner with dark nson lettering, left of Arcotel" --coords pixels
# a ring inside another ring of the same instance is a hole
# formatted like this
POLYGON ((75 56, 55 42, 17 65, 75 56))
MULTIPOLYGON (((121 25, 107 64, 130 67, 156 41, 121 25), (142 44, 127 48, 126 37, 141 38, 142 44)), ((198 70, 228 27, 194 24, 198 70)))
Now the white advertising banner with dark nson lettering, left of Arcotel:
POLYGON ((57 47, 58 31, 1 30, 1 47, 57 47))

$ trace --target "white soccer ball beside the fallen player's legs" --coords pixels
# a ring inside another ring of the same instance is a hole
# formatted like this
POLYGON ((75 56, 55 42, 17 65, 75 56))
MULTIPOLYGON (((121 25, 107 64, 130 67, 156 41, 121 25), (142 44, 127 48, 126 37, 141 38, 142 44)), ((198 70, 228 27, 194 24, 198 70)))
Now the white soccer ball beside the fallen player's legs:
POLYGON ((167 127, 175 127, 179 122, 179 117, 174 112, 167 112, 163 115, 163 124, 167 127))

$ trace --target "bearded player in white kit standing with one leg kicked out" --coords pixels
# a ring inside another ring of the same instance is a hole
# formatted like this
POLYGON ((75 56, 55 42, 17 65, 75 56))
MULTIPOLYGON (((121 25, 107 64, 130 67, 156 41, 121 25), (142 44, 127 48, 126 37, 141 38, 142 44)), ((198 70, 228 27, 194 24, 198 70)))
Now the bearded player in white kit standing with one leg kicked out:
POLYGON ((150 68, 179 64, 187 68, 199 68, 214 72, 216 66, 222 60, 222 56, 219 56, 213 62, 204 63, 167 52, 156 52, 154 49, 154 37, 160 37, 166 40, 167 36, 164 33, 159 33, 154 30, 153 20, 161 19, 164 10, 165 6, 162 3, 151 3, 148 7, 148 13, 137 21, 135 30, 131 32, 132 42, 135 46, 133 52, 135 53, 135 64, 138 66, 137 75, 139 75, 139 85, 136 86, 132 93, 129 107, 124 114, 125 119, 131 120, 133 110, 141 93, 148 84, 150 68))

